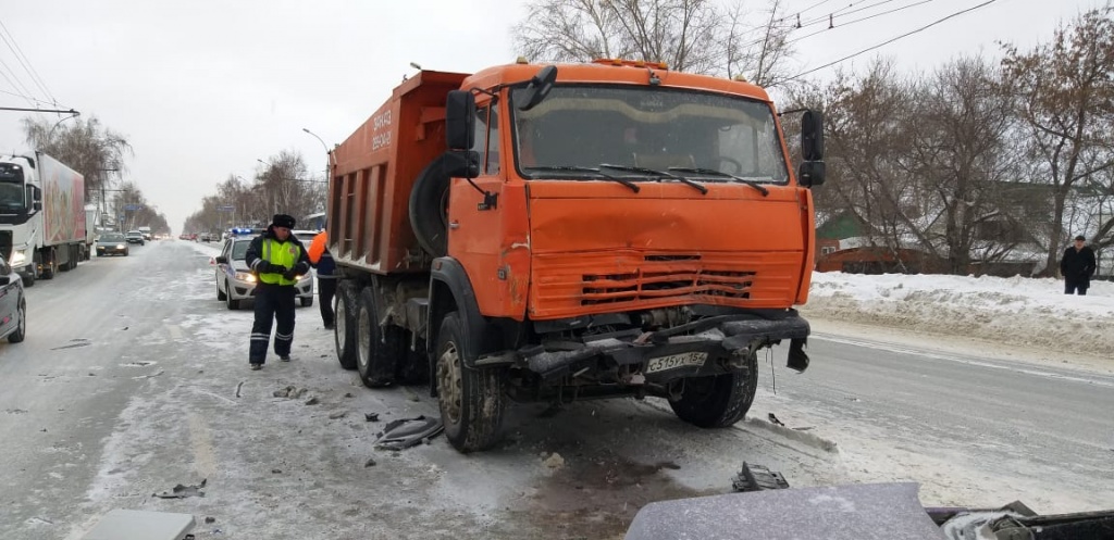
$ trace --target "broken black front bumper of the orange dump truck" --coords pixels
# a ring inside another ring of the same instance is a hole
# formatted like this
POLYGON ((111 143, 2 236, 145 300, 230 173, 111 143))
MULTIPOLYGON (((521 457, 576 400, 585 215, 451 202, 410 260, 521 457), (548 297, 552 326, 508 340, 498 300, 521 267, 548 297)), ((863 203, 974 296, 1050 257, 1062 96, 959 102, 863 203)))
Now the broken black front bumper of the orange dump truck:
POLYGON ((509 354, 483 357, 477 365, 514 363, 554 380, 569 373, 626 367, 645 382, 666 383, 684 376, 725 373, 742 365, 761 347, 790 340, 788 366, 804 371, 809 323, 795 311, 776 315, 734 314, 705 317, 656 332, 637 330, 585 336, 583 341, 547 342, 509 354))

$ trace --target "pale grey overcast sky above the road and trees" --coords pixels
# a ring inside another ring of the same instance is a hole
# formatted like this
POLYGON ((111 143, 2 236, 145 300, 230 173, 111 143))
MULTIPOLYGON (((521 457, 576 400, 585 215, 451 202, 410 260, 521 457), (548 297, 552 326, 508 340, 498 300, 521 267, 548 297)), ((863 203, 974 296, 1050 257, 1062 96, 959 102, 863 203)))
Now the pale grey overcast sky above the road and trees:
MULTIPOLYGON (((922 2, 802 39, 794 67, 822 66, 983 1, 785 0, 788 12, 804 10, 802 21, 877 6, 844 18, 852 21, 922 2)), ((931 70, 965 52, 997 56, 997 41, 1032 47, 1051 38, 1062 20, 1102 3, 996 0, 841 66, 885 55, 902 68, 931 70)), ((0 22, 60 108, 96 116, 127 138, 135 156, 124 179, 135 181, 177 232, 228 175, 252 178, 258 158, 293 150, 310 169, 324 169, 321 143, 302 128, 330 147, 342 141, 413 72, 411 61, 462 72, 514 61, 510 28, 526 4, 38 0, 6 2, 0 22)), ((30 107, 22 96, 50 101, 11 45, 0 42, 0 106, 30 107)), ((26 115, 0 111, 0 151, 27 149, 20 129, 26 115)))

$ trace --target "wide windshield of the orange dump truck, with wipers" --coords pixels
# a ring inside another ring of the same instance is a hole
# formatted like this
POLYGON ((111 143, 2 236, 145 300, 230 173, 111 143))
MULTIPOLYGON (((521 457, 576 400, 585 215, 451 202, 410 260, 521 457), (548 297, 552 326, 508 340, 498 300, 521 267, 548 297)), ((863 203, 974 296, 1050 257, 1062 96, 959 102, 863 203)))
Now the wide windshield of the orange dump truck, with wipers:
POLYGON ((773 112, 759 100, 657 87, 566 85, 524 111, 514 107, 520 91, 511 91, 509 109, 524 178, 576 176, 577 167, 602 164, 677 168, 702 181, 785 184, 789 178, 773 112))

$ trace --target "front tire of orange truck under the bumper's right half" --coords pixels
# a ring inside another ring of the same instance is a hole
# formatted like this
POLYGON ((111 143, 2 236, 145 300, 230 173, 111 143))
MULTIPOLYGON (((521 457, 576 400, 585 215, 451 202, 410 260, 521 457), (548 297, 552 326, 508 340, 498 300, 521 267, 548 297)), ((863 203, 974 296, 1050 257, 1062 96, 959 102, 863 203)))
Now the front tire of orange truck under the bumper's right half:
POLYGON ((727 428, 746 415, 758 391, 758 353, 746 359, 746 369, 721 375, 685 380, 681 399, 670 401, 677 418, 700 428, 727 428))

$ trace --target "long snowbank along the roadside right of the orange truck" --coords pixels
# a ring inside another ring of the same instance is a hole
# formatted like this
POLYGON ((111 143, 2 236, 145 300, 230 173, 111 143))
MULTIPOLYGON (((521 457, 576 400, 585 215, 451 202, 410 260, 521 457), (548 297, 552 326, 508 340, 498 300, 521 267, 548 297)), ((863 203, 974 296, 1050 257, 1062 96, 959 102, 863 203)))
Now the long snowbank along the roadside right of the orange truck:
MULTIPOLYGON (((812 274, 807 317, 1114 356, 1114 283, 1065 295, 1053 278, 812 274)), ((814 325, 813 330, 817 325, 814 325)))

